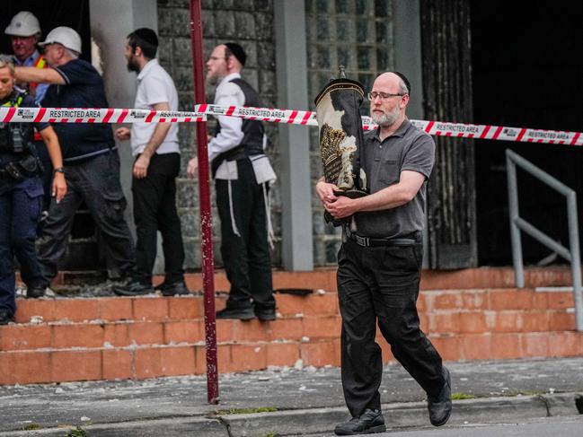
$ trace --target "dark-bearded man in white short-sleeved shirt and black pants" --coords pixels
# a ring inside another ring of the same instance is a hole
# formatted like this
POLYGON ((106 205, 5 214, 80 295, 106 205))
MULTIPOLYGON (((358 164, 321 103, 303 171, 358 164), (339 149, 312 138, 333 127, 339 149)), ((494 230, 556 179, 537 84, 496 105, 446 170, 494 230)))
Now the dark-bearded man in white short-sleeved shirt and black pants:
MULTIPOLYGON (((155 58, 158 37, 141 28, 128 35, 125 57, 128 70, 137 73, 134 108, 178 110, 178 92, 172 77, 155 58)), ((188 294, 184 283, 184 246, 181 221, 176 211, 176 177, 181 168, 176 123, 134 123, 131 130, 119 127, 121 140, 130 140, 134 162, 132 193, 136 222, 137 272, 125 285, 113 289, 126 296, 153 293, 157 232, 162 233, 165 276, 160 289, 164 296, 188 294)))

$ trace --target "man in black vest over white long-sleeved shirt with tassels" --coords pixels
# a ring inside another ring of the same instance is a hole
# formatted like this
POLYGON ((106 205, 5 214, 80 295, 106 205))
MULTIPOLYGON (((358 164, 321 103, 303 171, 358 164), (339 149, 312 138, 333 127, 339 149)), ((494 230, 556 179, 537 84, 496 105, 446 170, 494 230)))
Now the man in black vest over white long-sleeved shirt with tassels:
MULTIPOLYGON (((259 93, 243 80, 247 55, 234 42, 219 44, 207 61, 207 80, 217 84, 215 104, 261 107, 259 93)), ((221 255, 231 283, 226 307, 217 319, 276 319, 269 255, 269 186, 276 179, 264 149, 267 136, 261 121, 217 117, 208 143, 221 219, 221 255)), ((198 158, 188 173, 194 178, 198 158)))

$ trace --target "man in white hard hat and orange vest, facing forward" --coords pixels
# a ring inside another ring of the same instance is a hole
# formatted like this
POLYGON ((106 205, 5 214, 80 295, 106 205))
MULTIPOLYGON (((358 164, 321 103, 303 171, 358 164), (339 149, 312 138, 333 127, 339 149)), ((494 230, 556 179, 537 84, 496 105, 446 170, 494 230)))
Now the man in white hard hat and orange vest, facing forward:
MULTIPOLYGON (((37 49, 40 39, 40 24, 37 17, 28 11, 21 11, 13 16, 4 30, 10 37, 14 52, 14 66, 47 67, 47 61, 37 49)), ((19 83, 20 85, 20 83, 19 83)), ((40 103, 49 89, 48 83, 28 83, 24 87, 37 103, 40 103)))

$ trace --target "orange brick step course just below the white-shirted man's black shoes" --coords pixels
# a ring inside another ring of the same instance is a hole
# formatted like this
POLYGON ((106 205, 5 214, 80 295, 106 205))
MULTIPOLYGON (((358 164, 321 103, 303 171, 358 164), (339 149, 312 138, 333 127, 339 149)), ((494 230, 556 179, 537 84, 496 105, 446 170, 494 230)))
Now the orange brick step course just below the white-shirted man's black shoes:
MULTIPOLYGON (((338 296, 334 292, 321 290, 307 296, 276 293, 275 296, 278 313, 284 318, 339 313, 338 296)), ((217 310, 225 306, 225 299, 224 293, 216 294, 217 310)), ((498 317, 499 322, 506 325, 510 321, 503 320, 508 319, 505 316, 512 318, 520 311, 529 311, 533 315, 541 312, 552 315, 553 311, 570 314, 573 305, 572 293, 535 292, 533 289, 432 290, 422 291, 418 299, 420 314, 432 314, 433 319, 441 318, 444 322, 452 319, 447 323, 454 324, 458 319, 469 323, 477 312, 481 312, 479 319, 484 323, 491 317, 498 317)), ((203 316, 200 294, 168 298, 153 294, 137 298, 19 299, 17 306, 17 323, 30 322, 35 316, 40 316, 44 322, 199 319, 203 316)))

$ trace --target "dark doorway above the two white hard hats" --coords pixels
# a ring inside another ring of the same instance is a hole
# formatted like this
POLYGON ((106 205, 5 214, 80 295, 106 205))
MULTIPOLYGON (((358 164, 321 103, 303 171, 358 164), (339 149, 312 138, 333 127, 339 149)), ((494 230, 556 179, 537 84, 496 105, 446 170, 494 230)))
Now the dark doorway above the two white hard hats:
POLYGON ((43 40, 57 26, 68 26, 81 35, 81 57, 91 62, 91 30, 89 0, 3 0, 0 14, 0 53, 12 53, 10 39, 4 29, 16 13, 30 11, 39 19, 43 40))

